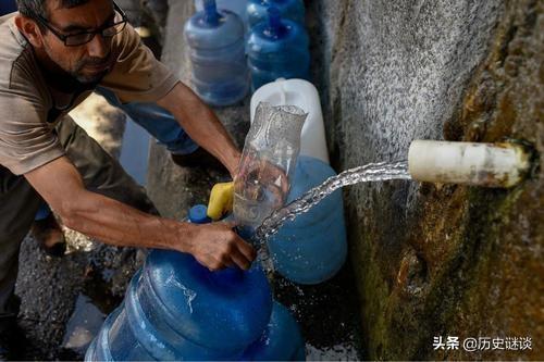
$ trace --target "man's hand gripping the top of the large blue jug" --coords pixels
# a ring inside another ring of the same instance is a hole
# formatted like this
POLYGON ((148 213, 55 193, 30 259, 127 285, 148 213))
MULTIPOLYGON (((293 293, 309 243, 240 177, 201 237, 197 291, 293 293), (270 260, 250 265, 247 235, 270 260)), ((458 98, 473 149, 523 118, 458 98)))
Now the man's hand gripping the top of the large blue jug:
POLYGON ((235 266, 248 270, 257 253, 233 232, 234 223, 191 224, 188 252, 210 271, 235 266))

